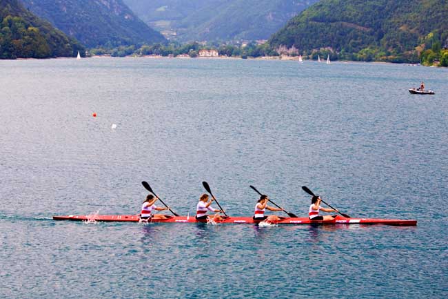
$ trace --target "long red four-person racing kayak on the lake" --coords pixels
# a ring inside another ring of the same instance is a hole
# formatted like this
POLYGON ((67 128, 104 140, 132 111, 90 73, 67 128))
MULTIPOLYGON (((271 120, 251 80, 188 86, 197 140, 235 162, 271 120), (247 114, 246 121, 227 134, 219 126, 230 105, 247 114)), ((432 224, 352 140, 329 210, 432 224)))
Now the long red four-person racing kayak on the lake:
MULTIPOLYGON (((101 222, 139 222, 139 215, 66 215, 53 216, 53 220, 101 221, 101 222)), ((172 216, 169 219, 153 219, 151 222, 206 222, 193 217, 172 216)), ((229 217, 220 223, 258 223, 252 217, 229 217)), ((344 218, 337 215, 333 220, 309 220, 309 218, 283 218, 276 224, 387 224, 396 226, 415 226, 417 220, 376 219, 376 218, 344 218)))

